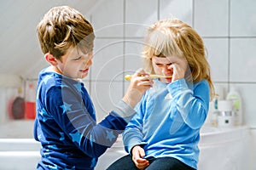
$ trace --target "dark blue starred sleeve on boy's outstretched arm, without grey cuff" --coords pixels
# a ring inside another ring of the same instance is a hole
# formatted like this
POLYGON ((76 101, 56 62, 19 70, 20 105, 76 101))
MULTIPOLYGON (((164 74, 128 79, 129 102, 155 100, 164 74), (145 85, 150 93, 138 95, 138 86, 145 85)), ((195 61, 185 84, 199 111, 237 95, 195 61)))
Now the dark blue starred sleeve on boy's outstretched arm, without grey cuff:
POLYGON ((127 122, 115 111, 111 111, 102 122, 96 123, 89 95, 83 102, 73 92, 73 88, 68 87, 49 90, 46 101, 50 103, 47 107, 49 112, 42 112, 43 120, 48 121, 48 117, 54 119, 64 132, 60 137, 63 144, 75 144, 87 156, 97 158, 116 141, 127 122), (46 115, 48 113, 51 115, 46 115))

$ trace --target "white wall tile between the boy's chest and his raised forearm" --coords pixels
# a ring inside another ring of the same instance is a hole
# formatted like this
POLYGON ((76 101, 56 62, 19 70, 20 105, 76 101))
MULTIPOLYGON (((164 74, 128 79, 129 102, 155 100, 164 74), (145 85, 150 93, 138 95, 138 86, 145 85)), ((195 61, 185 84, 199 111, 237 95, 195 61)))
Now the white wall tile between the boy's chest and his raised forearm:
POLYGON ((91 82, 91 97, 96 109, 97 121, 101 121, 122 99, 123 82, 91 82))

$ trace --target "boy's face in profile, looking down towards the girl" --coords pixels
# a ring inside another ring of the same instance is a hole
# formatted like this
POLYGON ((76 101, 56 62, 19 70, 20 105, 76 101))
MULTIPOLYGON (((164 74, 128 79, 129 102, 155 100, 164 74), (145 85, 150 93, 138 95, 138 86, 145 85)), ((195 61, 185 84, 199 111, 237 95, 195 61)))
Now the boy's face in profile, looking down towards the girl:
POLYGON ((57 59, 57 69, 66 77, 73 79, 84 78, 88 75, 90 65, 92 64, 92 51, 83 54, 78 48, 69 48, 67 54, 57 59))

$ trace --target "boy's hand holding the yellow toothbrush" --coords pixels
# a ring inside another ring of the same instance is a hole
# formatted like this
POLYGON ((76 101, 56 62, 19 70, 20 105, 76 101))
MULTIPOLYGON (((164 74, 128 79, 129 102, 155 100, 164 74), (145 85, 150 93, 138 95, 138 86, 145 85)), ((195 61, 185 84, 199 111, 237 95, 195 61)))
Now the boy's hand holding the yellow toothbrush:
POLYGON ((137 105, 143 94, 153 85, 152 79, 142 69, 138 70, 132 77, 130 85, 126 90, 123 100, 131 107, 137 105))

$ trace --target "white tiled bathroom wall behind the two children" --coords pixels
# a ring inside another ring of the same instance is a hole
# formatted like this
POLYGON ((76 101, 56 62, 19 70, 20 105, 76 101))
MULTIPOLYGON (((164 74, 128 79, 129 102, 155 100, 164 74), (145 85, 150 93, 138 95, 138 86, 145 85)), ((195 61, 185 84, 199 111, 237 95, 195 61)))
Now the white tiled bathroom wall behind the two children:
MULTIPOLYGON (((124 95, 128 84, 124 75, 141 67, 140 52, 147 26, 156 20, 177 17, 203 37, 213 82, 217 91, 223 91, 220 97, 224 99, 233 86, 241 94, 243 123, 252 129, 256 139, 255 6, 254 0, 102 1, 87 15, 96 30, 96 47, 90 77, 85 81, 98 120, 124 95)), ((252 147, 255 150, 255 140, 252 147)))

